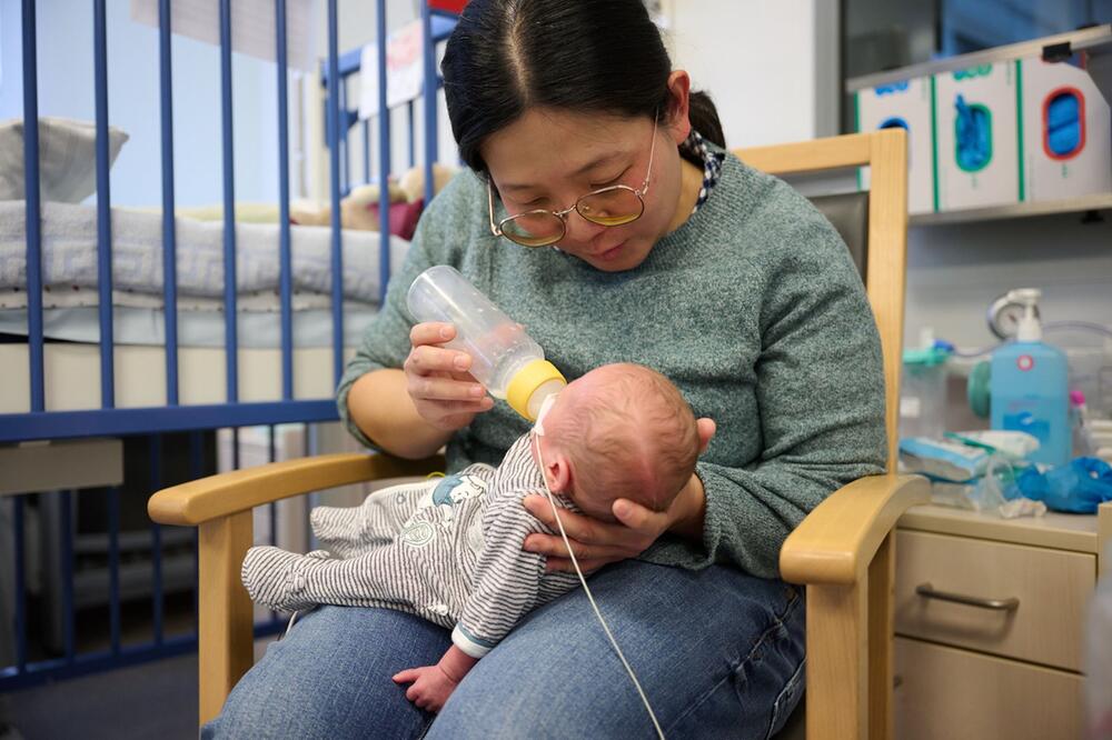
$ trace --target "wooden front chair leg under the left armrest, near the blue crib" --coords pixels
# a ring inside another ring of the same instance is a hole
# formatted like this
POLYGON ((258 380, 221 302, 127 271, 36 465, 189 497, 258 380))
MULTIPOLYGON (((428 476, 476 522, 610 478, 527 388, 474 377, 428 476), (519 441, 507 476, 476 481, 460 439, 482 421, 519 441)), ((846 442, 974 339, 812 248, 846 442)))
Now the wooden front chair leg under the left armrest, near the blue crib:
POLYGON ((252 609, 239 579, 251 544, 251 512, 198 528, 198 679, 203 724, 220 713, 231 688, 251 667, 252 609))

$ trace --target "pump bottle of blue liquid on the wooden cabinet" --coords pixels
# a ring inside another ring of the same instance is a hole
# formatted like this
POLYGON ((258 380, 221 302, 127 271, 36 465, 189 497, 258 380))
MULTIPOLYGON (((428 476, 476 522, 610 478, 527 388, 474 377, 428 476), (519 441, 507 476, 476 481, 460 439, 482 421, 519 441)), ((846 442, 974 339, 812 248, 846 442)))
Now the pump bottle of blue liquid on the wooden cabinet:
POLYGON ((1042 341, 1041 294, 1033 288, 1011 293, 1024 310, 1015 339, 992 354, 992 428, 1027 432, 1039 440, 1029 460, 1064 466, 1072 444, 1069 366, 1062 350, 1042 341))

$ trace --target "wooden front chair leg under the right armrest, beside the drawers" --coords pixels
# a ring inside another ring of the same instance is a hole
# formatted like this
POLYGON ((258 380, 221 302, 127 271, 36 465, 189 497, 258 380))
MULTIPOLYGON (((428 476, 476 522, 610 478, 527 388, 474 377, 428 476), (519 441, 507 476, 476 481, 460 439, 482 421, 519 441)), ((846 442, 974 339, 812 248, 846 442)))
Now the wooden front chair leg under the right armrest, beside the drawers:
POLYGON ((868 731, 865 584, 807 587, 807 740, 868 731))

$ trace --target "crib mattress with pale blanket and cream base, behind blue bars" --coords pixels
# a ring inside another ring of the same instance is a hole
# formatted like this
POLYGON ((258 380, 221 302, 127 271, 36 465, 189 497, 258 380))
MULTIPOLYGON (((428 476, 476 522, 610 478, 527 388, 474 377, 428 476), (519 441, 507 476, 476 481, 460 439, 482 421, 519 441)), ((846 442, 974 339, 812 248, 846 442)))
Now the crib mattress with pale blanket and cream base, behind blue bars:
MULTIPOLYGON (((0 333, 27 336, 22 201, 0 201, 0 333)), ((227 401, 222 312, 222 224, 178 219, 178 393, 181 404, 227 401)), ((239 400, 281 400, 281 323, 277 224, 240 223, 237 234, 239 400)), ((294 258, 294 398, 335 393, 330 310, 331 234, 291 229, 294 258)), ((345 231, 344 357, 377 310, 379 234, 345 231)), ((100 408, 97 214, 83 206, 42 209, 46 408, 100 408)), ((166 398, 161 216, 112 212, 115 390, 118 408, 158 407, 166 398)), ((408 242, 390 241, 397 268, 408 242)), ((0 343, 0 413, 30 411, 26 342, 0 343)))

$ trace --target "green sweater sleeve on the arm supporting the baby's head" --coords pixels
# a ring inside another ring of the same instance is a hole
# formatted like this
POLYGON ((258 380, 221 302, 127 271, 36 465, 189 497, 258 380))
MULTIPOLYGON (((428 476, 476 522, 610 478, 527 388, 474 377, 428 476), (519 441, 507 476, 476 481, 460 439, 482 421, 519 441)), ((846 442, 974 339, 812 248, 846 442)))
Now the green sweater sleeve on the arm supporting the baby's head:
POLYGON ((755 363, 762 453, 742 467, 699 462, 702 547, 666 539, 645 559, 729 562, 780 573, 787 534, 832 492, 885 460, 880 337, 861 278, 825 222, 792 232, 798 249, 767 259, 755 363))

